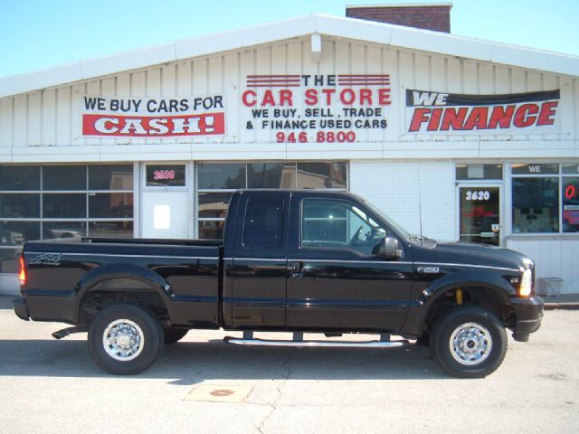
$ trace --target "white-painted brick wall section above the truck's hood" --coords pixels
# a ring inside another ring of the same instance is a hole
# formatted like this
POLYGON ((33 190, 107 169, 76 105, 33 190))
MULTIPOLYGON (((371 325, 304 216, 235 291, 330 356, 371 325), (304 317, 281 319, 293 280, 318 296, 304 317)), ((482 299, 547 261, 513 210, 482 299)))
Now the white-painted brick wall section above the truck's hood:
POLYGON ((454 165, 452 162, 350 161, 350 191, 374 203, 406 231, 439 241, 456 239, 454 165))

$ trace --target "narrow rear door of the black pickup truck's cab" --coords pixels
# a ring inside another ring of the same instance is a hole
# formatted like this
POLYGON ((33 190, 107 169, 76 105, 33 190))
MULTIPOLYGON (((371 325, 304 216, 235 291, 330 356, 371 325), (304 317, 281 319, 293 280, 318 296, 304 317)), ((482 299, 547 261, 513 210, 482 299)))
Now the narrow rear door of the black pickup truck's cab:
MULTIPOLYGON (((243 192, 230 269, 233 328, 284 329, 289 193, 243 192)), ((225 258, 225 261, 228 259, 225 258)))

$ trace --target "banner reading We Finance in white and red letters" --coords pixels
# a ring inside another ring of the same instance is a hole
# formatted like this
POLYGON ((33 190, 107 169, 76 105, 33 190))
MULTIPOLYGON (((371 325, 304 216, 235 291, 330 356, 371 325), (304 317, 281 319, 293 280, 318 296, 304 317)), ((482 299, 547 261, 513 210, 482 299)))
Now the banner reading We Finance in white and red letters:
POLYGON ((406 132, 413 134, 553 134, 559 90, 461 95, 406 90, 406 132))

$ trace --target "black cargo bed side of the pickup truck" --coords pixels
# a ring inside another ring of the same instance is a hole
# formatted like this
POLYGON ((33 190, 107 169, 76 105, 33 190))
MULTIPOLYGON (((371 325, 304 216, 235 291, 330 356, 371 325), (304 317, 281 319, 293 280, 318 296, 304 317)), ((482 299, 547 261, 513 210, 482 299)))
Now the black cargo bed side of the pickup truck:
POLYGON ((29 241, 30 317, 79 324, 89 291, 130 295, 147 288, 162 298, 173 325, 217 328, 222 250, 221 241, 201 240, 29 241))

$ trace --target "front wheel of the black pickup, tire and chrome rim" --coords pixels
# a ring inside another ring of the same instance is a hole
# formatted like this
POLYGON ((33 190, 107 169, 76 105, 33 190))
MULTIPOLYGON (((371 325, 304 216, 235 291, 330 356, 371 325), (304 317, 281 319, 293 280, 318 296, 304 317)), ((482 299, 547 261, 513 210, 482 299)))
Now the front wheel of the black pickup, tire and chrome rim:
POLYGON ((479 307, 450 310, 441 316, 431 335, 434 360, 445 373, 460 378, 493 373, 507 354, 507 342, 498 317, 479 307))

